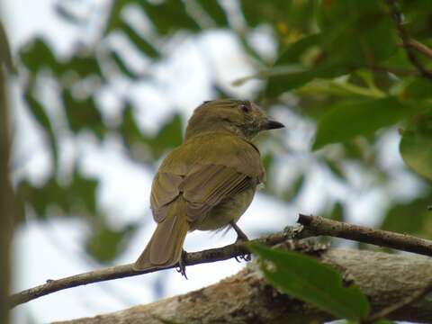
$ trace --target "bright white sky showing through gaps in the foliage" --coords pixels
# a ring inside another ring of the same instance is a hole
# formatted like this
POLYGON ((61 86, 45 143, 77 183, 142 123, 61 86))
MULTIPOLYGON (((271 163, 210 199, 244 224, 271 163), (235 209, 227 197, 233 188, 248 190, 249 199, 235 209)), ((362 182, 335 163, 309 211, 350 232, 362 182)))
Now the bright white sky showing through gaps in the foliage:
MULTIPOLYGON (((89 0, 82 3, 98 6, 106 4, 106 1, 89 0)), ((47 37, 59 55, 67 55, 75 42, 81 40, 82 31, 59 20, 54 14, 53 4, 54 0, 3 1, 0 9, 15 51, 36 34, 47 37)), ((139 17, 133 13, 130 14, 130 19, 139 21, 139 17)), ((266 31, 257 32, 253 38, 257 47, 268 49, 269 56, 274 55, 271 38, 266 31)), ((116 46, 123 46, 121 41, 117 40, 116 46)), ((115 85, 116 92, 129 95, 136 103, 136 117, 143 130, 157 130, 158 125, 165 121, 173 109, 188 118, 194 107, 211 99, 211 76, 216 76, 220 85, 235 96, 247 97, 259 85, 257 81, 239 87, 232 85, 237 78, 251 75, 254 69, 248 65, 238 41, 226 31, 206 31, 198 37, 176 42, 175 46, 176 50, 166 62, 157 66, 157 81, 164 85, 163 90, 144 83, 128 86, 119 81, 115 85), (221 48, 224 50, 220 50, 221 48)), ((132 51, 127 54, 132 58, 132 63, 139 67, 139 58, 134 58, 132 51)), ((23 109, 19 84, 12 86, 12 93, 14 122, 18 134, 14 156, 17 160, 24 161, 16 166, 15 171, 28 176, 34 184, 42 184, 52 167, 49 154, 40 130, 23 109)), ((110 91, 100 94, 99 100, 103 103, 101 106, 105 116, 120 113, 119 104, 110 91)), ((284 136, 288 146, 295 152, 278 161, 281 165, 278 177, 283 182, 293 178, 301 170, 299 167, 311 167, 313 158, 308 152, 307 143, 313 136, 314 127, 287 110, 275 113, 276 119, 287 126, 287 130, 278 130, 279 133, 275 136, 284 136)), ((383 137, 382 158, 383 164, 399 170, 403 164, 401 157, 394 153, 397 152, 399 142, 395 134, 396 131, 391 131, 383 137)), ((121 144, 115 139, 107 139, 103 146, 99 146, 84 134, 77 143, 66 141, 60 158, 67 160, 76 154, 83 157, 80 164, 83 172, 99 178, 98 206, 105 211, 113 225, 121 228, 130 221, 151 218, 148 195, 154 170, 130 162, 122 151, 121 144)), ((369 179, 356 172, 356 165, 347 165, 347 168, 353 170, 350 174, 352 182, 356 184, 356 191, 348 192, 346 187, 330 180, 328 171, 311 167, 304 193, 298 202, 288 205, 258 193, 238 225, 250 238, 254 238, 259 232, 276 231, 286 225, 293 225, 297 212, 320 211, 329 199, 336 198, 345 198, 351 202, 349 220, 357 224, 374 225, 376 215, 386 207, 389 193, 383 189, 367 191, 365 188, 368 188, 369 179)), ((392 189, 395 191, 393 196, 408 199, 419 190, 419 183, 401 171, 397 172, 392 188, 396 188, 392 189)), ((155 226, 152 224, 140 228, 127 250, 116 258, 113 265, 133 262, 145 247, 155 226)), ((78 218, 40 222, 29 214, 26 224, 17 229, 14 238, 14 292, 43 284, 48 279, 76 275, 100 267, 85 255, 83 241, 89 230, 91 229, 78 218)), ((221 233, 195 231, 187 236, 184 247, 186 251, 220 247, 232 243, 235 238, 232 231, 225 236, 221 233)), ((155 301, 161 296, 185 293, 217 283, 220 279, 237 273, 243 266, 244 263, 232 259, 210 265, 190 266, 187 268, 189 280, 184 280, 175 270, 167 270, 76 287, 17 307, 14 310, 14 323, 46 323, 119 311, 155 301), (165 290, 161 288, 162 282, 168 283, 165 290), (155 287, 159 287, 158 293, 155 293, 155 287)))

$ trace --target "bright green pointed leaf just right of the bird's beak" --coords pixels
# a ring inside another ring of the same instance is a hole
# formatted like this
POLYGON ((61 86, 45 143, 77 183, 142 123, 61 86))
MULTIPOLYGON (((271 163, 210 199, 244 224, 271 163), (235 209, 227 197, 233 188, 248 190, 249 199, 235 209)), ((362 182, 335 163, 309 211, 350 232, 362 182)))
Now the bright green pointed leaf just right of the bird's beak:
POLYGON ((337 103, 319 121, 313 149, 369 135, 401 120, 405 110, 393 97, 337 103))

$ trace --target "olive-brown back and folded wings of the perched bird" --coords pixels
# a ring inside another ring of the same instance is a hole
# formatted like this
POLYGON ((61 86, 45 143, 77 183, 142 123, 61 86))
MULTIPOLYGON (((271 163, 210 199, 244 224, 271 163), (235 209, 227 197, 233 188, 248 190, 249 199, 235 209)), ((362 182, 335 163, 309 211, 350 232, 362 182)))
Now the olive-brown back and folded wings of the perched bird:
POLYGON ((165 220, 171 202, 183 194, 187 219, 198 220, 263 177, 259 152, 250 143, 227 135, 194 139, 172 151, 159 167, 150 196, 154 219, 165 220))

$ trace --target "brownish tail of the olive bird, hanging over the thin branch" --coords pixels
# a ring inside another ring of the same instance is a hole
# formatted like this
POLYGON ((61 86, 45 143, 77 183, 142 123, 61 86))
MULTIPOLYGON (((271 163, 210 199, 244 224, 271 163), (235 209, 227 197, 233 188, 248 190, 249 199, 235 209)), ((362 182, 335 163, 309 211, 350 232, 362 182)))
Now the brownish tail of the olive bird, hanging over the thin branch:
POLYGON ((134 270, 173 266, 182 257, 184 238, 189 230, 186 204, 182 196, 171 203, 166 219, 157 224, 147 247, 135 262, 134 270))

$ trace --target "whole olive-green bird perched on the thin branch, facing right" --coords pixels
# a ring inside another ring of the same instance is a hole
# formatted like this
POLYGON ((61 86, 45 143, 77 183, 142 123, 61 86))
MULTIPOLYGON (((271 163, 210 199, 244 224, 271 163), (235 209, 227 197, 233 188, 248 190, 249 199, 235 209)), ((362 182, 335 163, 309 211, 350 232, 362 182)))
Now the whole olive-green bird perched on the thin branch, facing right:
POLYGON ((166 156, 153 180, 150 207, 157 229, 134 269, 178 265, 185 276, 183 243, 194 229, 231 226, 238 239, 247 240, 236 222, 265 177, 251 139, 282 127, 248 101, 216 100, 196 108, 184 143, 166 156))

